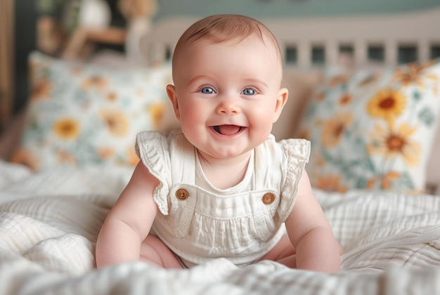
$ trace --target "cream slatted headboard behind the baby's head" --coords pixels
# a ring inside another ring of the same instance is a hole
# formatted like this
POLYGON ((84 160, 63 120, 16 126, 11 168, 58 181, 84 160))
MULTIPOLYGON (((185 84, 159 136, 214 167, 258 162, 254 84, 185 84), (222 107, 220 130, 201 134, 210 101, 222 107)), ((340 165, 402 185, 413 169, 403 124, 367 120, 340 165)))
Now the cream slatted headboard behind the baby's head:
MULTIPOLYGON (((169 60, 183 31, 198 18, 158 21, 142 39, 145 60, 169 60)), ((259 18, 278 39, 287 67, 335 63, 340 52, 357 65, 426 61, 440 55, 440 6, 429 11, 326 18, 259 18)))

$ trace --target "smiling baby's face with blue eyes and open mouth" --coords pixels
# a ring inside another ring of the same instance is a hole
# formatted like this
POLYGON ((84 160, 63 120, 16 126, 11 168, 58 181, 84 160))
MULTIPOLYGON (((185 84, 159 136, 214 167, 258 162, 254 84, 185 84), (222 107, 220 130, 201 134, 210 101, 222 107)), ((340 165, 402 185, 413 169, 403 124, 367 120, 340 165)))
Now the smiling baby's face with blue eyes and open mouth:
POLYGON ((186 46, 173 77, 176 116, 205 157, 239 157, 264 142, 287 100, 275 46, 254 36, 186 46))

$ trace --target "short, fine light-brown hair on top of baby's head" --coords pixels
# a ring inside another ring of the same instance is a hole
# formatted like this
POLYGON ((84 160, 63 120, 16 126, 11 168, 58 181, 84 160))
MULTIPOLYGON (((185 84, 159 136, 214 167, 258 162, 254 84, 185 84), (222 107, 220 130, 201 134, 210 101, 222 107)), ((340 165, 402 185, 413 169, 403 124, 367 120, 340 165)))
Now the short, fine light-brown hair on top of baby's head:
POLYGON ((283 64, 278 41, 271 30, 254 18, 235 14, 211 15, 193 23, 177 41, 173 63, 176 56, 179 56, 180 51, 188 42, 195 42, 200 39, 207 39, 214 44, 228 41, 240 42, 252 35, 256 35, 263 42, 265 37, 271 41, 271 44, 276 48, 281 65, 283 64))

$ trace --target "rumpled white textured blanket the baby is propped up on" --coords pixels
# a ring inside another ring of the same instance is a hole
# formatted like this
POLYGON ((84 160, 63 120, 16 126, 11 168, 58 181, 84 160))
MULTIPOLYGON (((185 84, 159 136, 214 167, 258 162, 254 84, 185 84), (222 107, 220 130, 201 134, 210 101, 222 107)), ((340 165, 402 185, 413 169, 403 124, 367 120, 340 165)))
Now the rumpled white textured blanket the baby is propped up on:
POLYGON ((226 259, 96 270, 98 231, 130 176, 0 162, 0 294, 440 294, 440 196, 432 195, 315 190, 344 248, 339 273, 226 259))

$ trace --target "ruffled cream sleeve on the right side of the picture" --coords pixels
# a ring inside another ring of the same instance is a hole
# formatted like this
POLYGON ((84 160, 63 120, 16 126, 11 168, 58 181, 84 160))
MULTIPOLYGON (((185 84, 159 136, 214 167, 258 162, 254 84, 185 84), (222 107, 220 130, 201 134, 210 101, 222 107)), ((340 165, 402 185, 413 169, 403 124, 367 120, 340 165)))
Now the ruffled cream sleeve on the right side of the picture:
POLYGON ((310 141, 305 139, 280 140, 284 151, 285 161, 283 162, 284 181, 281 184, 280 206, 278 216, 281 222, 285 222, 292 212, 297 200, 299 180, 304 173, 305 166, 310 157, 310 141))

